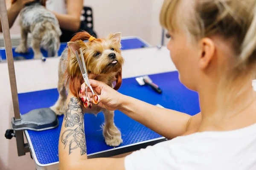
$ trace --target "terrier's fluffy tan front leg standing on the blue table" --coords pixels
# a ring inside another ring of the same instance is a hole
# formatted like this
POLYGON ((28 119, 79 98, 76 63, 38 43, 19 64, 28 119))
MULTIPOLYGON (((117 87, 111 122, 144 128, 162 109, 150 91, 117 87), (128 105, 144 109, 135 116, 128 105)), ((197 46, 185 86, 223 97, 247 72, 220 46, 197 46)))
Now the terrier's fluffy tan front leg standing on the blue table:
POLYGON ((114 124, 114 111, 104 110, 103 136, 109 146, 119 146, 123 141, 120 130, 114 124))

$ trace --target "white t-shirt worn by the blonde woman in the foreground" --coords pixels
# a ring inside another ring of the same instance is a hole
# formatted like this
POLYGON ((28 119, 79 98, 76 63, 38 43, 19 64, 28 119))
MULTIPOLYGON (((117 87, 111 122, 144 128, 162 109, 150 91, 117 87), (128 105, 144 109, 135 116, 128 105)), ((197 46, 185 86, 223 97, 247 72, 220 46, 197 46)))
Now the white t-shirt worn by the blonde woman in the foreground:
POLYGON ((256 170, 256 124, 200 132, 148 146, 125 158, 126 170, 256 170))

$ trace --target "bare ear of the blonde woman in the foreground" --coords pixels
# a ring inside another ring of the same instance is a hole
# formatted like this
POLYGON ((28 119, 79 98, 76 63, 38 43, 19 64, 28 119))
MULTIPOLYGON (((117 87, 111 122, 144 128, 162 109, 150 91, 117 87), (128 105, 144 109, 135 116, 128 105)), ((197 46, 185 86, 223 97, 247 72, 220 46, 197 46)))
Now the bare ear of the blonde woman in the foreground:
POLYGON ((215 55, 215 44, 210 38, 203 38, 201 40, 201 51, 199 58, 199 67, 205 69, 209 66, 215 55))

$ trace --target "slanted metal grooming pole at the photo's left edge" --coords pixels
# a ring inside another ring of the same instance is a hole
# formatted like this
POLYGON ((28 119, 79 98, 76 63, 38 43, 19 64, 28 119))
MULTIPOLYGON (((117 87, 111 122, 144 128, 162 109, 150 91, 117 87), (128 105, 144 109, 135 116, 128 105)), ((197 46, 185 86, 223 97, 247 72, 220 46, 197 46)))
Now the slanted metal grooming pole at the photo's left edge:
MULTIPOLYGON (((14 68, 14 62, 13 62, 12 44, 11 44, 9 22, 8 22, 8 16, 7 16, 6 0, 0 0, 0 17, 1 17, 1 24, 3 29, 4 45, 6 49, 6 59, 8 64, 9 79, 10 79, 11 92, 12 92, 14 117, 16 120, 18 120, 20 119, 20 108, 19 108, 19 102, 18 102, 17 84, 16 84, 15 68, 14 68)), ((30 151, 28 144, 24 144, 23 130, 16 130, 15 133, 12 133, 12 136, 16 137, 18 156, 23 156, 26 154, 26 152, 30 151)))

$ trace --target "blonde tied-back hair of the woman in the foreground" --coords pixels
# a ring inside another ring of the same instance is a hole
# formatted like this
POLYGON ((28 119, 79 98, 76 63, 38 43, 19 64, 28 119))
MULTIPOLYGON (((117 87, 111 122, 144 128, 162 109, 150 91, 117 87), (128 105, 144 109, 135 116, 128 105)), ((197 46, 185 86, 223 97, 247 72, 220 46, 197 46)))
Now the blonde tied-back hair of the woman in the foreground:
POLYGON ((246 88, 237 78, 256 76, 256 0, 165 0, 160 23, 168 31, 184 31, 193 42, 212 35, 231 42, 232 61, 216 87, 218 111, 241 99, 246 88), (181 9, 182 2, 192 5, 181 9))

